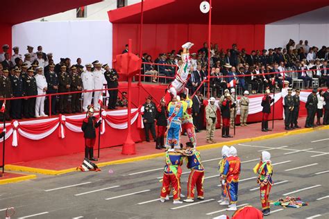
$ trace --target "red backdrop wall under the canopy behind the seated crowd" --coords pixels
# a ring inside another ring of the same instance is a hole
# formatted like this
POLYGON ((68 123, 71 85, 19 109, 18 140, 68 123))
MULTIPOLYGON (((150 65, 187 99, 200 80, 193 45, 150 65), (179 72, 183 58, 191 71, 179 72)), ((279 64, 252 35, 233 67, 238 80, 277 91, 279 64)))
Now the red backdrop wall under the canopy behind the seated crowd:
MULTIPOLYGON (((140 24, 113 24, 113 57, 124 51, 128 39, 133 40, 133 53, 139 52, 140 24)), ((212 43, 219 48, 228 49, 237 43, 239 49, 250 52, 264 49, 264 25, 212 25, 212 43)), ((172 49, 178 51, 181 45, 190 41, 195 45, 191 51, 196 52, 208 42, 208 25, 205 24, 144 24, 142 53, 149 53, 153 60, 159 53, 172 49)))

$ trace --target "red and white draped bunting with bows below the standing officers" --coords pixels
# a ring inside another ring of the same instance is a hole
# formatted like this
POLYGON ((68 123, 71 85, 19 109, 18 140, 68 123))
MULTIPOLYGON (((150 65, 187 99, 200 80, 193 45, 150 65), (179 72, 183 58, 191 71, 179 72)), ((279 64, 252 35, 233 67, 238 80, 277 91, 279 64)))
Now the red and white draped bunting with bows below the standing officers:
MULTIPOLYGON (((99 114, 95 114, 99 118, 99 114)), ((105 110, 101 112, 101 117, 111 128, 124 130, 128 126, 127 109, 106 112, 105 110)), ((25 137, 31 140, 40 140, 48 137, 50 134, 55 132, 58 128, 58 138, 65 138, 65 128, 71 130, 72 132, 83 132, 81 130, 81 125, 85 119, 84 114, 75 116, 65 116, 60 114, 58 118, 54 119, 40 119, 34 121, 22 121, 17 120, 12 121, 12 123, 6 124, 6 137, 8 139, 12 134, 12 146, 19 145, 19 136, 25 137)), ((142 125, 142 115, 139 109, 131 109, 131 124, 135 123, 137 120, 137 127, 144 128, 142 125)), ((1 126, 1 131, 3 125, 1 126)), ((101 134, 106 132, 106 125, 103 122, 101 125, 101 134)), ((0 139, 0 142, 3 139, 0 139)))

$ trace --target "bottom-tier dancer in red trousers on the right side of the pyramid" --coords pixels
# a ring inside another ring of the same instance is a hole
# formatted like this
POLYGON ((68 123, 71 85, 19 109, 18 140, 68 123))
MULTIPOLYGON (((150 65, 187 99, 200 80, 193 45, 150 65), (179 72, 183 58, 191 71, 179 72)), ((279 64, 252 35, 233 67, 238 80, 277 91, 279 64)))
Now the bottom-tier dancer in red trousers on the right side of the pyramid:
POLYGON ((194 202, 194 187, 198 191, 198 199, 204 200, 203 197, 203 180, 205 177, 205 168, 201 163, 201 155, 199 150, 196 150, 192 142, 186 143, 186 150, 183 150, 183 155, 187 156, 187 168, 191 170, 189 180, 187 182, 187 199, 184 202, 194 202))

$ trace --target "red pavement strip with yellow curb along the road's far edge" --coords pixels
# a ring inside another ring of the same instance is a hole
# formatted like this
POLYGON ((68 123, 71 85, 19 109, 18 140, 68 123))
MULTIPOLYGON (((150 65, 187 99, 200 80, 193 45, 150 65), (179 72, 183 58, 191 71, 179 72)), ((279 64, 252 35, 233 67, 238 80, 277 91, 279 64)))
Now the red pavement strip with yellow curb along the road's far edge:
MULTIPOLYGON (((298 119, 301 127, 305 125, 305 117, 298 119)), ((271 121, 269 121, 271 128, 271 121)), ((253 123, 247 127, 236 127, 236 135, 232 139, 221 138, 221 130, 216 130, 214 140, 217 143, 207 144, 205 139, 205 130, 196 134, 198 148, 200 150, 208 148, 217 148, 223 145, 233 145, 242 142, 258 141, 261 139, 269 139, 282 137, 289 134, 301 134, 312 132, 313 128, 301 128, 291 131, 285 130, 283 121, 274 121, 274 131, 261 132, 260 123, 253 123)), ((321 125, 316 129, 329 129, 328 125, 321 125)), ((230 134, 233 135, 233 129, 230 129, 230 134)), ((182 143, 188 141, 186 136, 182 136, 182 143)), ((82 149, 81 149, 82 150, 82 149)), ((154 142, 136 143, 136 155, 122 155, 121 147, 103 148, 100 150, 100 159, 96 164, 101 166, 109 166, 115 164, 124 164, 132 161, 140 161, 144 159, 152 159, 163 156, 164 150, 156 150, 154 142)), ((97 150, 94 150, 94 155, 97 155, 97 150)), ((220 155, 220 150, 219 150, 220 155)), ((60 175, 76 171, 76 167, 83 162, 84 153, 75 153, 58 157, 49 157, 44 159, 36 159, 33 161, 20 162, 17 164, 6 165, 6 170, 24 171, 31 173, 40 173, 47 175, 60 175)), ((96 156, 95 156, 96 157, 96 156)))

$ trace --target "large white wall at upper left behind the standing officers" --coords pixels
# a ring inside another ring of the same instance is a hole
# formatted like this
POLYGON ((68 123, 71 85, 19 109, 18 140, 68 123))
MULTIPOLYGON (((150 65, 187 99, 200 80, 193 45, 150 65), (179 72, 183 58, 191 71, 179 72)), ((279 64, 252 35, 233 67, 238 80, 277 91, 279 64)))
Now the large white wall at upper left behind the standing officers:
POLYGON ((41 45, 44 53, 53 53, 55 63, 81 58, 83 64, 99 60, 112 66, 112 24, 110 21, 25 22, 12 26, 12 45, 24 55, 26 47, 41 45))

